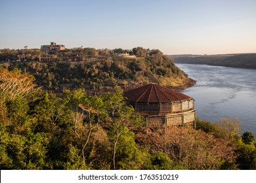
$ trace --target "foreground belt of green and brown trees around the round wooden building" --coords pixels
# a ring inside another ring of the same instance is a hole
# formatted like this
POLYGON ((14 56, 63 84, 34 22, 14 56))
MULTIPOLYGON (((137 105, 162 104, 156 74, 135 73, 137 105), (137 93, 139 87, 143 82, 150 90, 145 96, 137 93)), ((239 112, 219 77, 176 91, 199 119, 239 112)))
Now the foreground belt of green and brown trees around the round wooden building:
POLYGON ((34 81, 0 69, 1 169, 256 169, 255 137, 236 118, 146 135, 119 87, 58 97, 34 81))

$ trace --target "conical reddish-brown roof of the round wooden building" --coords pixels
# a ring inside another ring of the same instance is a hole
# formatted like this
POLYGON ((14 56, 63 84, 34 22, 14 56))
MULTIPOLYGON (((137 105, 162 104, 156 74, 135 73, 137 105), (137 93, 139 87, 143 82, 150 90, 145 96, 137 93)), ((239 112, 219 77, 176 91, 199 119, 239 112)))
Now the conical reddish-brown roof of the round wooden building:
POLYGON ((169 103, 191 99, 188 95, 164 88, 158 84, 147 84, 124 93, 128 101, 137 103, 169 103))

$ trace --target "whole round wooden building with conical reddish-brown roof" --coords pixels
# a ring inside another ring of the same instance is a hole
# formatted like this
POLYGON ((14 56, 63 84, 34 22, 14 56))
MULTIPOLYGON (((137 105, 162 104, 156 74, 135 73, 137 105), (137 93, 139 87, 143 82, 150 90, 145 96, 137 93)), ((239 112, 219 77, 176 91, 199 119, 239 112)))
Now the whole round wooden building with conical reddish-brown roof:
POLYGON ((146 118, 147 127, 196 127, 194 99, 188 95, 158 84, 148 84, 129 90, 124 96, 127 104, 135 108, 135 113, 146 118))

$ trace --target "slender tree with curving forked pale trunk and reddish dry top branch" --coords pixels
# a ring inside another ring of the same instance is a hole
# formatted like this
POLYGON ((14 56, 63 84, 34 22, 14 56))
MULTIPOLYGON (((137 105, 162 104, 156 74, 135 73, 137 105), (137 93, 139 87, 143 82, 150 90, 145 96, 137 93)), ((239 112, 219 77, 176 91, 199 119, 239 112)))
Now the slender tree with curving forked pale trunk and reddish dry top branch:
MULTIPOLYGON (((100 124, 107 120, 105 105, 102 97, 96 95, 87 96, 83 90, 75 90, 65 92, 67 105, 72 108, 69 114, 71 120, 69 128, 77 138, 78 147, 81 152, 83 166, 86 166, 86 161, 89 161, 91 146, 106 142, 98 138, 98 133, 102 132, 100 124), (98 143, 99 142, 99 143, 98 143)), ((102 135, 104 133, 101 133, 102 135)), ((93 158, 92 158, 93 159, 93 158)))

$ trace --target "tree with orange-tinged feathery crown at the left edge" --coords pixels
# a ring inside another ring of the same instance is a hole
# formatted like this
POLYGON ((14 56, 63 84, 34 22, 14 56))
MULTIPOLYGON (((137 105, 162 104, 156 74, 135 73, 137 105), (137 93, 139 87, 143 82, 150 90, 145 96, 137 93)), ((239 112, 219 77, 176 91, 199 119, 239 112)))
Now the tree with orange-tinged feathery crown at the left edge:
POLYGON ((33 76, 21 74, 20 70, 0 68, 1 125, 9 127, 11 133, 30 131, 33 120, 27 117, 28 103, 38 91, 33 76))

